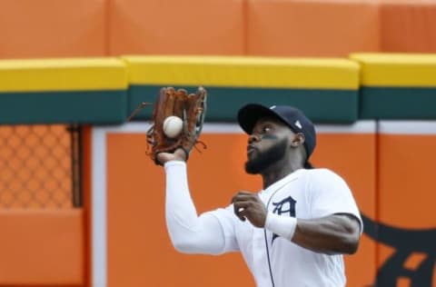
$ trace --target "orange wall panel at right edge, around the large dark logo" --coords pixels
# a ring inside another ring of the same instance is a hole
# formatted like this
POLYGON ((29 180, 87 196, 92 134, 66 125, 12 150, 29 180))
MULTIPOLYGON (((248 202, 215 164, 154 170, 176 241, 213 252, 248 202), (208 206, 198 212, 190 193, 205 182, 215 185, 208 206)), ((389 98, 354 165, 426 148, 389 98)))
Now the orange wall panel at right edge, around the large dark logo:
MULTIPOLYGON (((436 134, 380 134, 379 135, 379 222, 402 230, 430 230, 435 234, 436 217, 434 189, 436 134)), ((381 233, 381 237, 389 234, 381 233)), ((385 262, 394 252, 406 252, 408 257, 400 262, 405 270, 416 272, 429 257, 429 252, 417 252, 425 245, 433 246, 432 238, 417 237, 410 242, 409 251, 388 244, 378 245, 378 265, 385 262), (425 242, 424 242, 425 241, 425 242)), ((400 240, 396 240, 400 242, 400 240)), ((430 251, 430 248, 428 249, 430 251)), ((434 256, 434 253, 433 253, 434 256)), ((421 277, 432 275, 432 286, 436 286, 436 265, 433 272, 421 273, 421 277)), ((399 279, 398 286, 411 286, 409 278, 399 279), (401 284, 401 285, 400 285, 401 284)))

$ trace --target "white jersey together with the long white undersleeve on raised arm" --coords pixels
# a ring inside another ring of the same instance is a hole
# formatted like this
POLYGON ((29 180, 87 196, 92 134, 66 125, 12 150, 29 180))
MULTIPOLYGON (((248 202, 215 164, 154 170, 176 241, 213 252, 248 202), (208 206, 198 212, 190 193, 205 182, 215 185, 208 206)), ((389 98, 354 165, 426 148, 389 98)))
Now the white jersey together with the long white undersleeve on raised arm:
MULTIPOLYGON (((165 216, 173 246, 180 252, 242 252, 258 287, 343 287, 342 255, 312 252, 242 222, 233 205, 198 216, 189 193, 186 166, 165 163, 165 216)), ((259 193, 271 213, 314 219, 351 213, 362 219, 348 185, 327 169, 301 169, 259 193)))

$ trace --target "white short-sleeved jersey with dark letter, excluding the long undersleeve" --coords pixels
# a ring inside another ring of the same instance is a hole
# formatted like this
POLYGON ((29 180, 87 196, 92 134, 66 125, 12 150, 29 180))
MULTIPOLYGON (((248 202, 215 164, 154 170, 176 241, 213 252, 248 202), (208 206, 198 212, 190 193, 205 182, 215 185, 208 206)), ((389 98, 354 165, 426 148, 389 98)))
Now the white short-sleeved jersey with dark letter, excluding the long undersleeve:
MULTIPOLYGON (((259 193, 269 212, 301 219, 352 213, 362 219, 348 185, 327 169, 298 170, 259 193)), ((240 221, 233 206, 211 212, 223 227, 225 252, 240 251, 259 287, 345 286, 342 255, 312 252, 240 221)), ((362 228, 361 228, 362 230, 362 228)))

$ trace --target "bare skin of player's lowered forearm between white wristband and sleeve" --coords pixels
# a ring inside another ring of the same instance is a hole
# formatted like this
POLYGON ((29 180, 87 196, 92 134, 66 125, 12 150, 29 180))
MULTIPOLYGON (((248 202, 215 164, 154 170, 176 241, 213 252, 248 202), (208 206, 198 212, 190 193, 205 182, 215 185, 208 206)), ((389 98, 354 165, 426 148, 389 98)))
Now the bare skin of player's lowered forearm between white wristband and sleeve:
POLYGON ((357 251, 359 223, 347 215, 331 215, 314 220, 298 220, 292 242, 328 254, 357 251))

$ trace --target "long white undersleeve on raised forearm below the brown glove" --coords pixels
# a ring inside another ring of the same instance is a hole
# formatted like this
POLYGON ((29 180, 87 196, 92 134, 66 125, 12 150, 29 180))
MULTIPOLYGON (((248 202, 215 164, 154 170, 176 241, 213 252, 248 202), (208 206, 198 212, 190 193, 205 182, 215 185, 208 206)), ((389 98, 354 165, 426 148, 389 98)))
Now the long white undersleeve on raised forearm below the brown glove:
POLYGON ((186 164, 165 163, 165 218, 174 248, 185 253, 219 253, 221 227, 211 215, 198 216, 189 193, 186 164))

